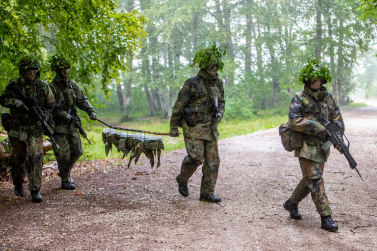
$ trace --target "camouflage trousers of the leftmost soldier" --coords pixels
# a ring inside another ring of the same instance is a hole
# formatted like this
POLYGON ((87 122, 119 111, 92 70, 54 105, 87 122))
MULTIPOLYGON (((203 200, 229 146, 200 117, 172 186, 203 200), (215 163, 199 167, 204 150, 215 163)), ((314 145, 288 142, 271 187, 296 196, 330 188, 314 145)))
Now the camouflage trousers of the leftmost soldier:
POLYGON ((39 191, 42 184, 43 133, 28 133, 27 142, 9 136, 10 174, 13 185, 25 181, 25 169, 29 191, 39 191))

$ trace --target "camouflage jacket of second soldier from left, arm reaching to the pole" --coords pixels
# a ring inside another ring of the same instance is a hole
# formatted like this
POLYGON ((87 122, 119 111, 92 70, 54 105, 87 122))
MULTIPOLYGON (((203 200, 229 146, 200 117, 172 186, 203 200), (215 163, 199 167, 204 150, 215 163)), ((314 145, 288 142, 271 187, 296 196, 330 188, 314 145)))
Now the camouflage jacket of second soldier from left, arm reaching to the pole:
POLYGON ((70 112, 70 110, 76 110, 77 106, 87 114, 90 114, 94 112, 93 106, 90 105, 88 98, 86 98, 81 88, 75 81, 69 78, 63 80, 55 76, 54 80, 49 85, 58 103, 53 111, 55 132, 69 134, 77 132, 77 128, 75 128, 74 131, 70 131, 70 123, 66 119, 67 113, 70 112))

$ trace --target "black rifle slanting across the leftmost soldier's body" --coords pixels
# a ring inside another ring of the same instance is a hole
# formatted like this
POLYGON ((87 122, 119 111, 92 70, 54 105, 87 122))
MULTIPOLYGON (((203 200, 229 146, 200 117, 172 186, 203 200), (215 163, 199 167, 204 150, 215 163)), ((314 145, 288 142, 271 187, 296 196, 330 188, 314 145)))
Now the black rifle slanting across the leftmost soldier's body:
POLYGON ((50 137, 51 141, 54 142, 57 149, 59 149, 59 145, 56 143, 53 137, 53 130, 47 123, 46 115, 42 111, 42 109, 38 105, 38 101, 35 99, 35 97, 27 97, 18 86, 14 86, 15 91, 18 93, 20 100, 24 102, 24 108, 31 112, 31 114, 36 118, 43 128, 43 131, 47 136, 50 137))

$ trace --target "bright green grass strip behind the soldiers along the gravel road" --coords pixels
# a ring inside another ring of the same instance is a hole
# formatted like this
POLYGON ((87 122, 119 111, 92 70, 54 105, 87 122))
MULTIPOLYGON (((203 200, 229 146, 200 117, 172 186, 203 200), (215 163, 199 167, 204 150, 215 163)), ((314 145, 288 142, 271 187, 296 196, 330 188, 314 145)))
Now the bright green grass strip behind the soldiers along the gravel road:
MULTIPOLYGON (((118 115, 119 116, 119 115, 118 115)), ((105 120, 104 117, 99 116, 105 120)), ((258 118, 252 120, 224 120, 219 126, 220 137, 219 139, 229 138, 237 135, 247 134, 258 130, 269 129, 279 126, 281 123, 286 122, 287 115, 285 116, 270 116, 265 118, 258 118)), ((111 121, 116 121, 114 117, 111 117, 111 121)), ((107 121, 108 122, 108 121, 107 121)), ((112 122, 112 123, 114 123, 112 122)), ((144 118, 139 121, 133 121, 119 125, 127 128, 137 128, 142 130, 156 131, 156 132, 169 132, 169 120, 158 120, 156 118, 144 118)), ((104 159, 104 158, 122 158, 123 153, 117 152, 117 149, 113 147, 112 151, 106 156, 105 146, 102 142, 102 129, 106 126, 96 125, 92 126, 90 130, 87 130, 87 135, 92 143, 89 145, 87 140, 82 139, 82 149, 84 151, 80 160, 84 159, 104 159)), ((182 132, 182 128, 179 128, 182 132)), ((183 136, 178 138, 172 138, 169 136, 162 136, 165 151, 173 151, 176 149, 184 148, 185 143, 183 136)))

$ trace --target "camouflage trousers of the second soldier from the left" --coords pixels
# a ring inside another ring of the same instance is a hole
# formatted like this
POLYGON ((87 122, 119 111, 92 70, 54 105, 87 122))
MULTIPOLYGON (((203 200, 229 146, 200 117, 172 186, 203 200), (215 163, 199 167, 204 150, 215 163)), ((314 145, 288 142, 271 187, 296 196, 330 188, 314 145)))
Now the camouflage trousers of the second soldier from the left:
POLYGON ((53 144, 59 176, 62 182, 68 182, 71 179, 73 165, 82 155, 80 134, 77 130, 72 134, 55 133, 54 139, 60 147, 56 149, 53 144))

